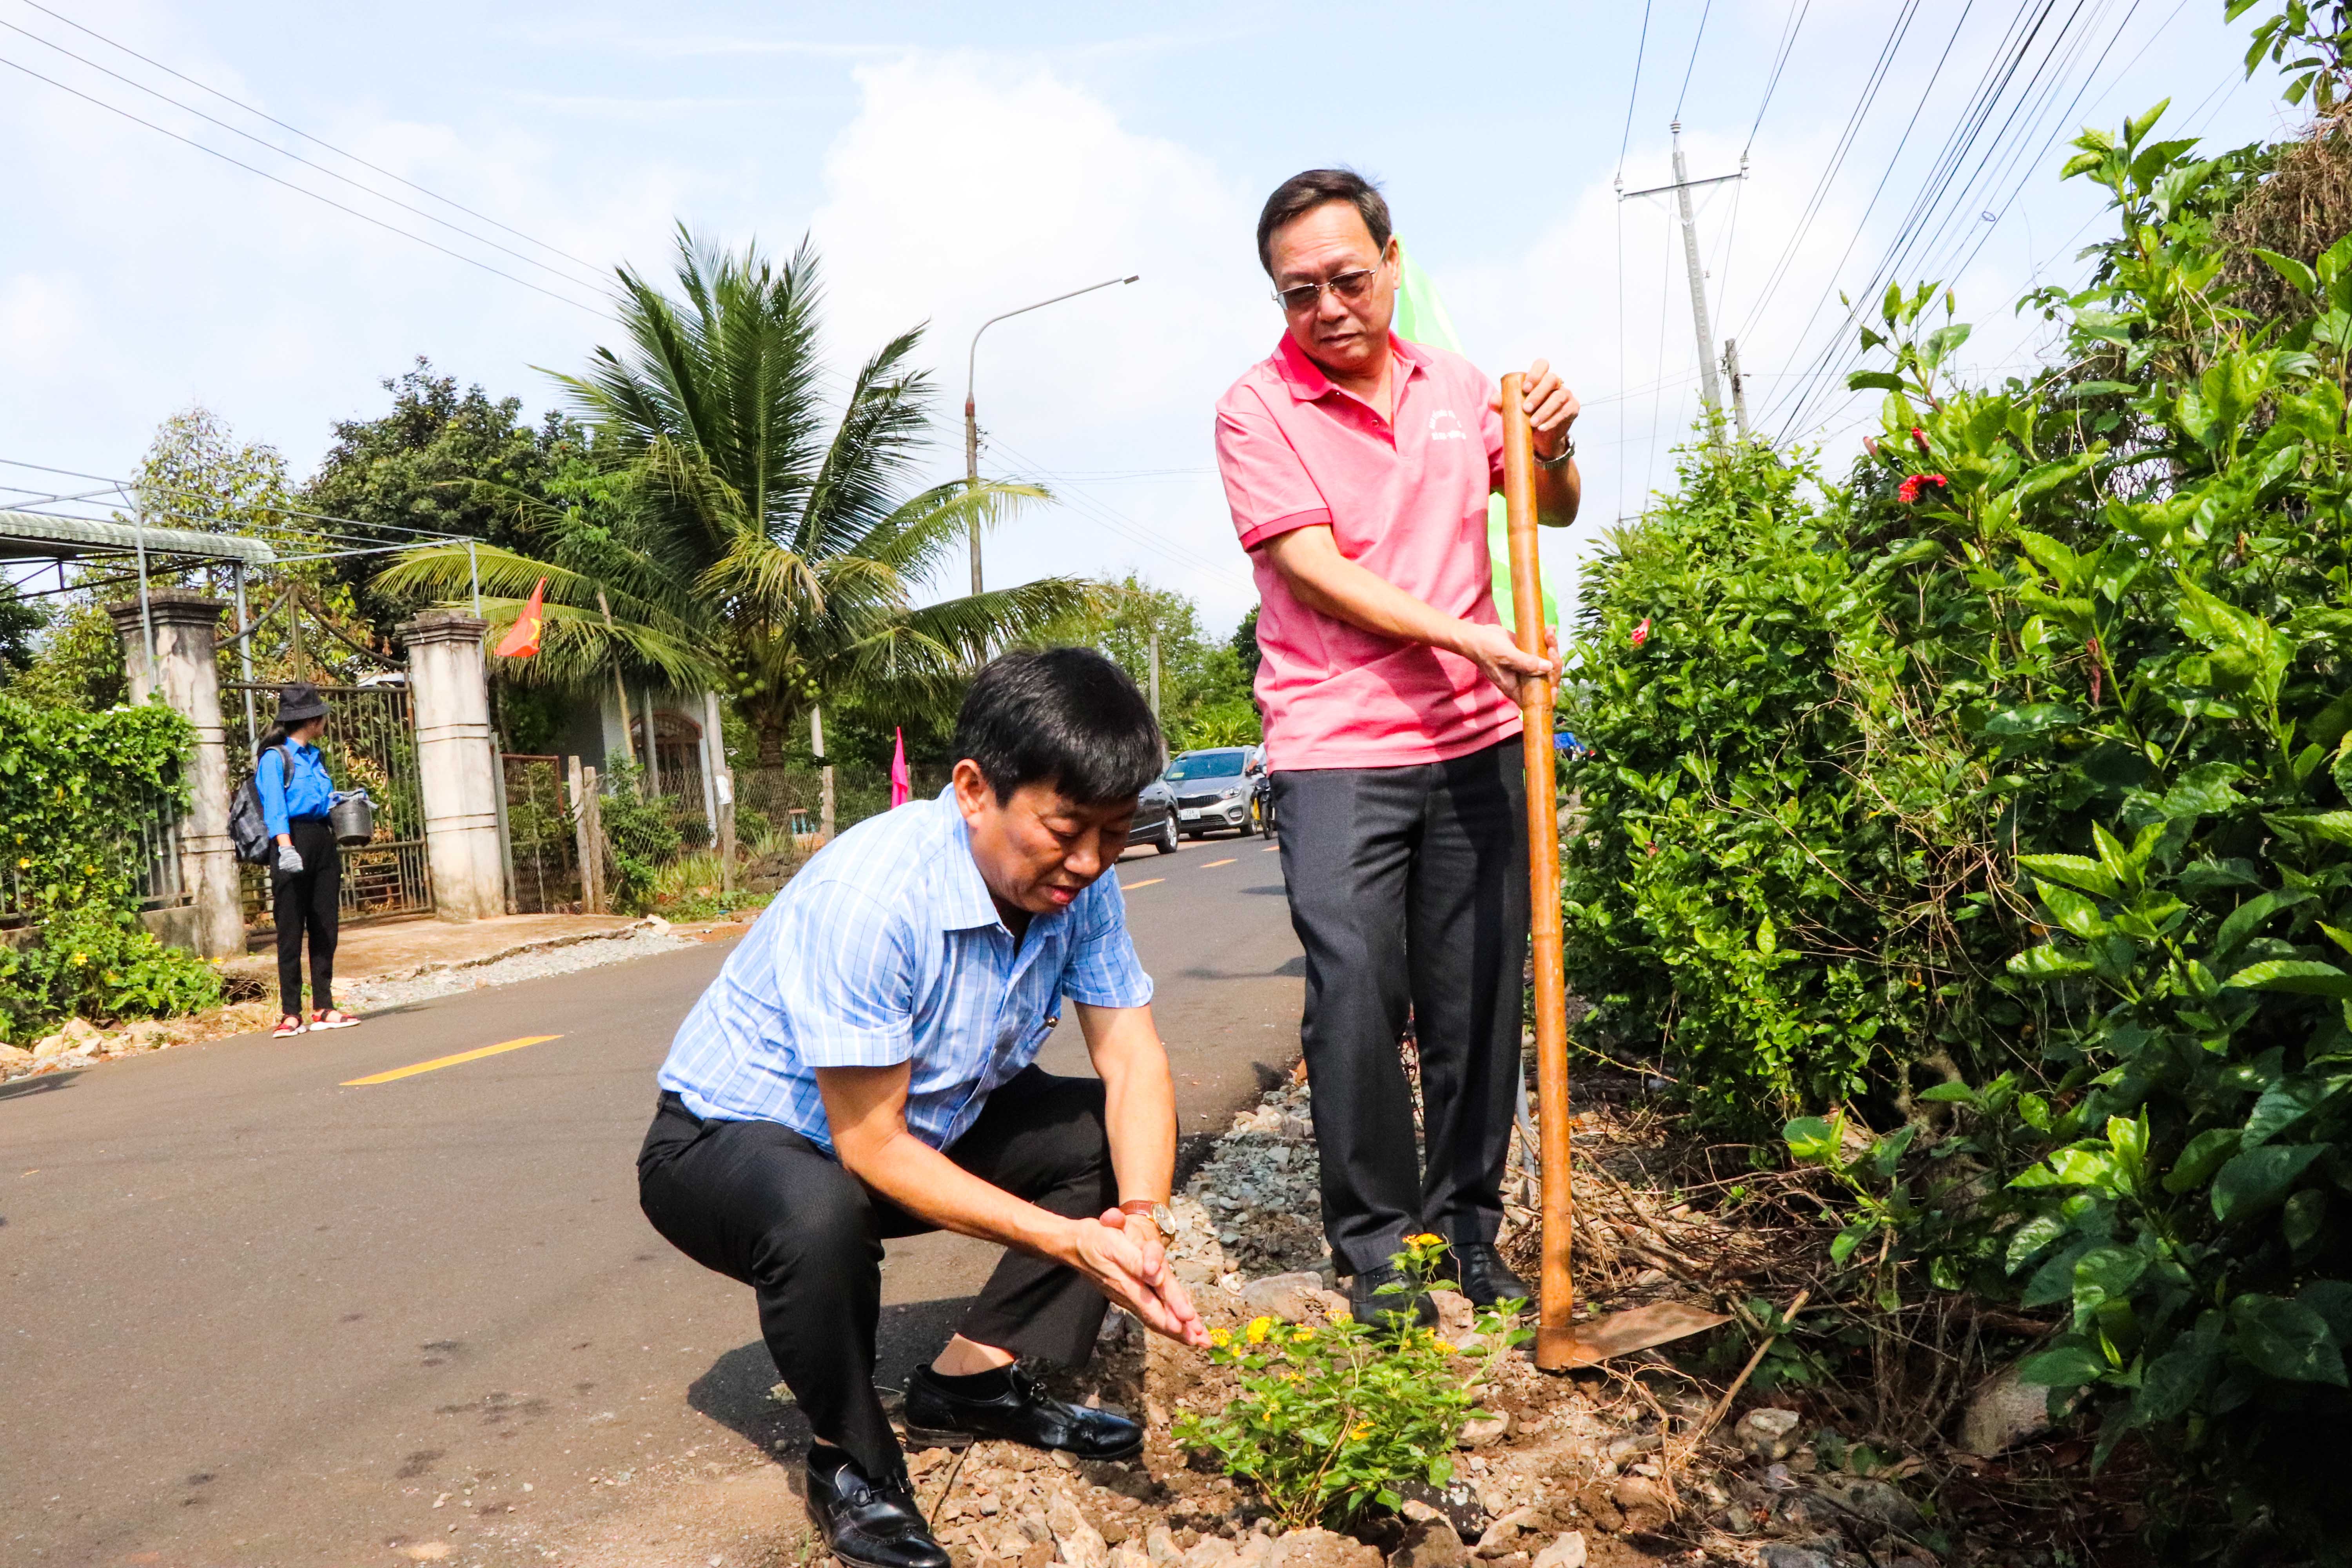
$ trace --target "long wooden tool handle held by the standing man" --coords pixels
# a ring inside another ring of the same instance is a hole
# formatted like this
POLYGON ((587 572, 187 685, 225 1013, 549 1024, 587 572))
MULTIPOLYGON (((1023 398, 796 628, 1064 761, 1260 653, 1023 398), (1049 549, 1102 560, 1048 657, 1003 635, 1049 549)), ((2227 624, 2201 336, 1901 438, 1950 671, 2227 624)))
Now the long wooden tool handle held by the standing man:
MULTIPOLYGON (((1510 609, 1524 654, 1548 658, 1543 564, 1536 559, 1536 433, 1519 402, 1522 378, 1503 376, 1503 505, 1510 522, 1510 609)), ((1519 682, 1526 757, 1526 896, 1536 961, 1536 1138, 1543 1147, 1543 1274, 1536 1366, 1571 1366, 1576 1307, 1569 1284, 1569 994, 1559 957, 1559 802, 1552 788, 1552 682, 1519 682)))

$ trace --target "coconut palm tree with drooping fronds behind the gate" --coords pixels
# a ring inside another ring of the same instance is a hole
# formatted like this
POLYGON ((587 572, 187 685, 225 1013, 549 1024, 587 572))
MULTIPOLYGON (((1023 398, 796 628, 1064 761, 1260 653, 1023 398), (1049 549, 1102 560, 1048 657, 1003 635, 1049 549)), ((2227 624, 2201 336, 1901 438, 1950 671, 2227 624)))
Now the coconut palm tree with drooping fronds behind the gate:
POLYGON ((393 592, 459 597, 480 569, 485 611, 510 621, 548 578, 541 654, 522 679, 583 684, 616 665, 729 693, 760 764, 823 701, 941 703, 1009 642, 1087 602, 1042 578, 934 604, 917 588, 967 536, 1042 498, 1030 484, 908 491, 931 381, 922 329, 884 343, 828 407, 816 355, 816 254, 783 266, 677 233, 673 299, 621 268, 626 346, 557 376, 602 470, 532 505, 546 548, 423 550, 393 592), (830 421, 830 430, 828 430, 830 421))

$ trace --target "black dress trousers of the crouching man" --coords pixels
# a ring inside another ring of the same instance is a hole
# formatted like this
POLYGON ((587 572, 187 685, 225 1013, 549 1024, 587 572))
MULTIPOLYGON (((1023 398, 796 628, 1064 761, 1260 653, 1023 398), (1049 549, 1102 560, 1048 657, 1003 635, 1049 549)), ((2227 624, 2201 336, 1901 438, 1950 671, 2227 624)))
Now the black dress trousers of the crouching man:
MULTIPOLYGON (((988 1095, 948 1159, 1058 1215, 1117 1208, 1101 1079, 1037 1067, 988 1095)), ((875 1394, 882 1241, 931 1229, 776 1121, 703 1121, 663 1093, 637 1152, 637 1201, 677 1251, 760 1300, 760 1335, 818 1439, 870 1479, 906 1469, 875 1394)), ((1082 1366, 1103 1293, 1058 1262, 1007 1251, 957 1333, 1082 1366)))

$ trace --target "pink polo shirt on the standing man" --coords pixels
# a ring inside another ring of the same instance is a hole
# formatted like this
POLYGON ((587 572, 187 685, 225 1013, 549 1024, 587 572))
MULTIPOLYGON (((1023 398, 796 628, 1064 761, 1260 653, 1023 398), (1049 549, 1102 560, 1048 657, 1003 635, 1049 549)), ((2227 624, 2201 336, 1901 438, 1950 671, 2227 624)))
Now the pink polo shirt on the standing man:
POLYGON ((1282 336, 1216 404, 1216 465, 1258 574, 1258 705, 1279 769, 1444 762, 1519 733, 1461 654, 1308 609, 1258 548, 1329 524, 1341 555, 1461 621, 1498 623, 1486 496, 1503 487, 1496 388, 1461 355, 1390 336, 1395 421, 1282 336))

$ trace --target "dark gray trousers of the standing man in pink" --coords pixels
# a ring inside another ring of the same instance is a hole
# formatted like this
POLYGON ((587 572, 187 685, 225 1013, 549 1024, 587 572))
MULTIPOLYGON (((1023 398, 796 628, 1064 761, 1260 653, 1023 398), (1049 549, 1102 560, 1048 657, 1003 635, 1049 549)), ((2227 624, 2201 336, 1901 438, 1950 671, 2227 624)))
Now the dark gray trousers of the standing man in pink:
POLYGON ((1404 1237, 1494 1241, 1519 1072, 1526 778, 1519 741, 1454 762, 1275 773, 1291 926, 1308 950, 1301 1039, 1341 1272, 1404 1237), (1421 1041, 1425 1168, 1397 1056, 1421 1041))

